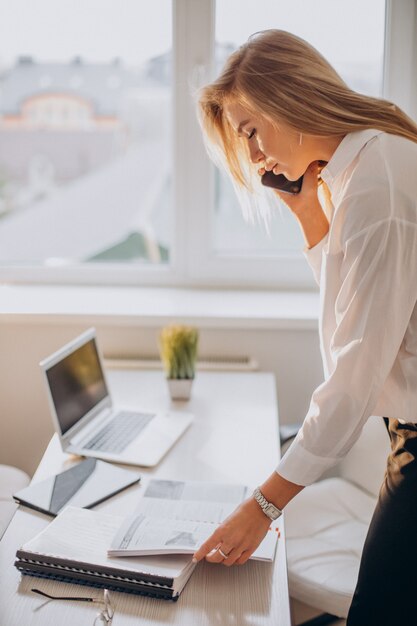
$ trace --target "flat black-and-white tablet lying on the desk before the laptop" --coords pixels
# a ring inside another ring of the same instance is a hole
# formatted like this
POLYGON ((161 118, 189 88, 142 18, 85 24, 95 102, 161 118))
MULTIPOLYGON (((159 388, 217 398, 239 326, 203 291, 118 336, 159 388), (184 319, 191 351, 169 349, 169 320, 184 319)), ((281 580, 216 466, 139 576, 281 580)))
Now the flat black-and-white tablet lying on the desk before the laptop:
POLYGON ((139 480, 140 474, 132 470, 86 459, 21 489, 13 498, 19 504, 55 516, 68 505, 90 509, 139 480))

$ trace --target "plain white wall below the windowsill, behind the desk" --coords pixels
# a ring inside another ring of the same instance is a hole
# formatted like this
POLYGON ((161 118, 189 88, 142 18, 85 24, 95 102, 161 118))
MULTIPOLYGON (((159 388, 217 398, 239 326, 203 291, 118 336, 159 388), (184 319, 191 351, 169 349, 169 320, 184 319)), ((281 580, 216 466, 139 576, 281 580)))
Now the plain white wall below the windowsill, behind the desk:
MULTIPOLYGON (((77 322, 16 321, 0 325, 0 463, 32 474, 52 435, 38 363, 89 325, 95 325, 105 356, 157 356, 159 327, 77 322)), ((315 330, 200 328, 200 355, 251 355, 277 381, 281 423, 301 421, 322 379, 315 330)))

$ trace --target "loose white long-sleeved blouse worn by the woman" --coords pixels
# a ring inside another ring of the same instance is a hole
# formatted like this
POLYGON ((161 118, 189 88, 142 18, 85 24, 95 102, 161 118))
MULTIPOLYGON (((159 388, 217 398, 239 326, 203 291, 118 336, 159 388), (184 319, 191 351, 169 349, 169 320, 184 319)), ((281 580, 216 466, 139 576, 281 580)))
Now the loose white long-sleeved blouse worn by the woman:
POLYGON ((330 229, 305 254, 325 381, 276 470, 299 485, 336 464, 370 415, 417 422, 417 143, 350 133, 321 175, 330 229))

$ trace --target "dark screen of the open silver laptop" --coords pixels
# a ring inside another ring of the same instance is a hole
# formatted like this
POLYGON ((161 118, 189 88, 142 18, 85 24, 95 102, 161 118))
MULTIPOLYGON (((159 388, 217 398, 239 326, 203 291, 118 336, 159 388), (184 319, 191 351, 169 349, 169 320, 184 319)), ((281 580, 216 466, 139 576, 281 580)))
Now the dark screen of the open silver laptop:
POLYGON ((108 396, 94 339, 52 365, 46 376, 63 435, 108 396))

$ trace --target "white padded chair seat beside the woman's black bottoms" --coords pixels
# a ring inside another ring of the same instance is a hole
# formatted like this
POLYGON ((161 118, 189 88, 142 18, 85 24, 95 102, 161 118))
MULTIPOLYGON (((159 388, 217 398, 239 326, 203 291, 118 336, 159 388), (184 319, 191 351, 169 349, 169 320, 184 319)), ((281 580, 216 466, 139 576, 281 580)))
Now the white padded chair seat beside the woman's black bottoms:
POLYGON ((343 478, 304 489, 285 507, 292 598, 346 617, 376 497, 343 478))

